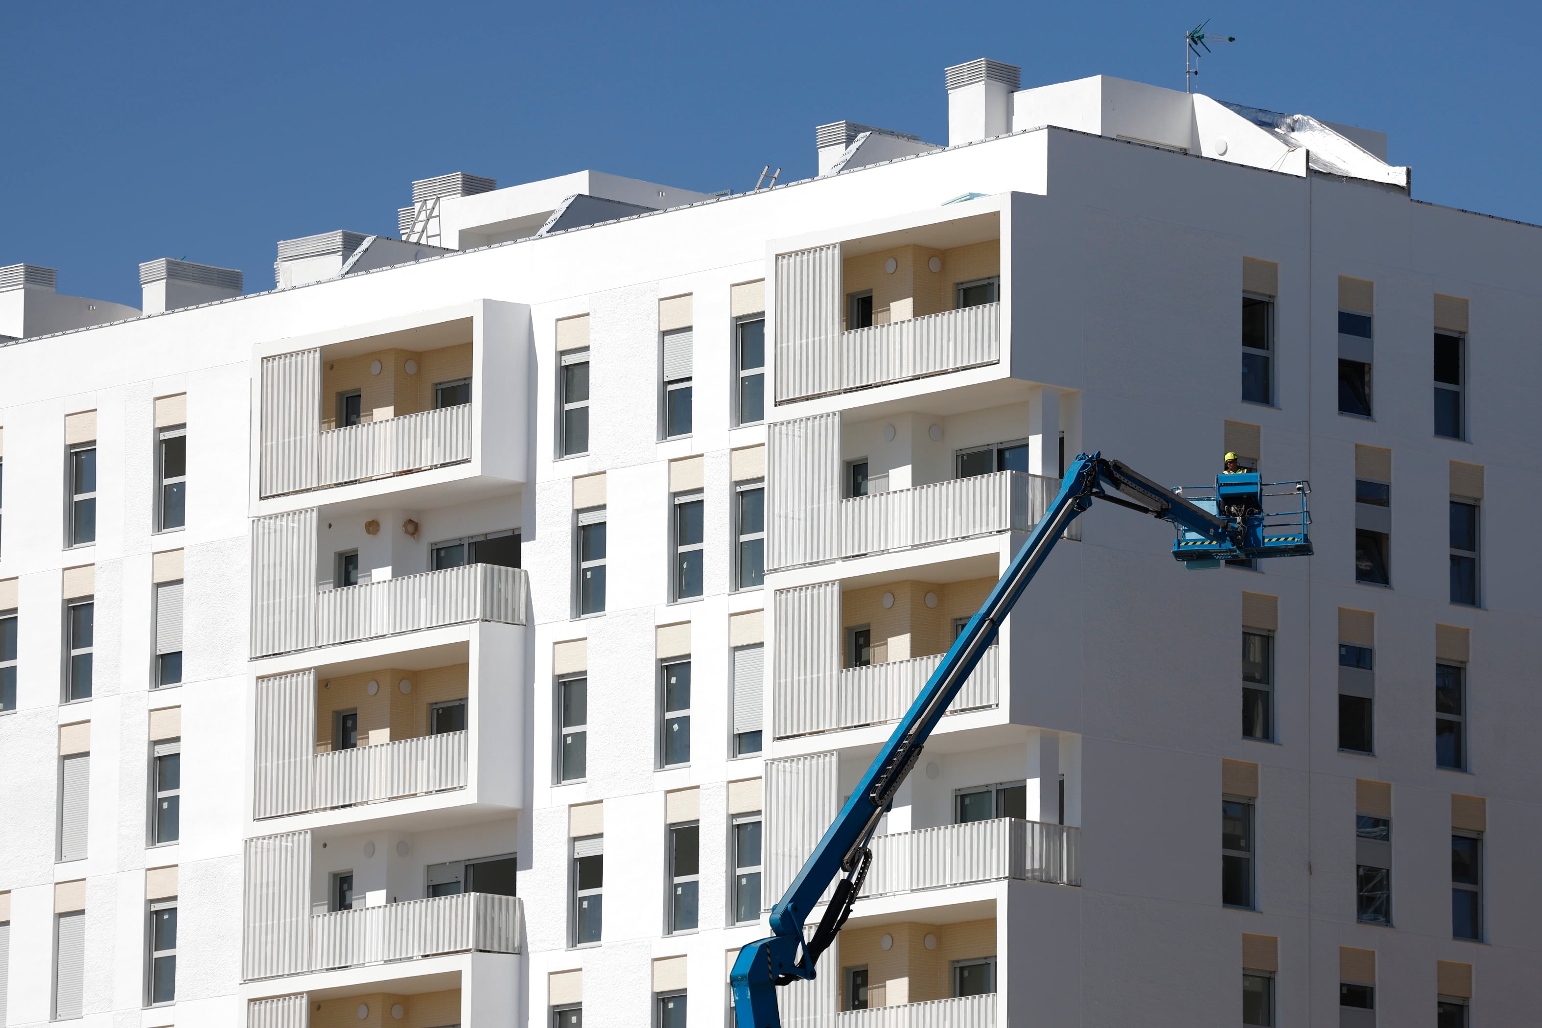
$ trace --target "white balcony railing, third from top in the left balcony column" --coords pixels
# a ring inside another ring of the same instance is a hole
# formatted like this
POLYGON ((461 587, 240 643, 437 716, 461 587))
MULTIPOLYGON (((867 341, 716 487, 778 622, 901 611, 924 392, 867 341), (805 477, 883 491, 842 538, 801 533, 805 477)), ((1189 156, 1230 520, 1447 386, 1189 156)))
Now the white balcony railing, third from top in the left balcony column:
POLYGON ((316 754, 313 811, 466 788, 466 732, 316 754))

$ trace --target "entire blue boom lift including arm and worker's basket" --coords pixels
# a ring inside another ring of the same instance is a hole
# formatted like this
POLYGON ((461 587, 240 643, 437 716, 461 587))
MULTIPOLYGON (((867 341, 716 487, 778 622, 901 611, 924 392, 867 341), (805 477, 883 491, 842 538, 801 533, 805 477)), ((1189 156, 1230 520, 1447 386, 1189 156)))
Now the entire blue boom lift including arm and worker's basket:
POLYGON ((901 783, 921 757, 938 720, 975 670, 985 647, 1018 596, 1044 566, 1066 527, 1092 507, 1093 499, 1106 499, 1130 510, 1170 521, 1178 530, 1172 555, 1190 570, 1220 567, 1224 559, 1261 556, 1309 556, 1312 543, 1308 526, 1312 518, 1306 506, 1308 482, 1260 482, 1258 475, 1220 475, 1212 487, 1169 490, 1140 475, 1119 461, 1101 453, 1082 453, 1066 472, 1059 495, 1044 512, 1033 533, 1001 576, 984 606, 970 618, 953 647, 938 664, 921 695, 901 718, 888 743, 879 751, 851 798, 814 846, 802 871, 793 879, 782 900, 771 908, 769 939, 760 939, 739 951, 729 982, 739 1028, 780 1028, 776 986, 799 979, 813 979, 819 956, 834 942, 862 891, 873 851, 868 840, 879 818, 888 809, 901 783), (1271 492, 1272 490, 1272 492, 1271 492), (1280 504, 1281 496, 1297 496, 1281 510, 1266 510, 1280 504), (843 877, 840 877, 843 875, 843 877), (813 937, 805 936, 805 922, 830 883, 834 892, 813 937))

